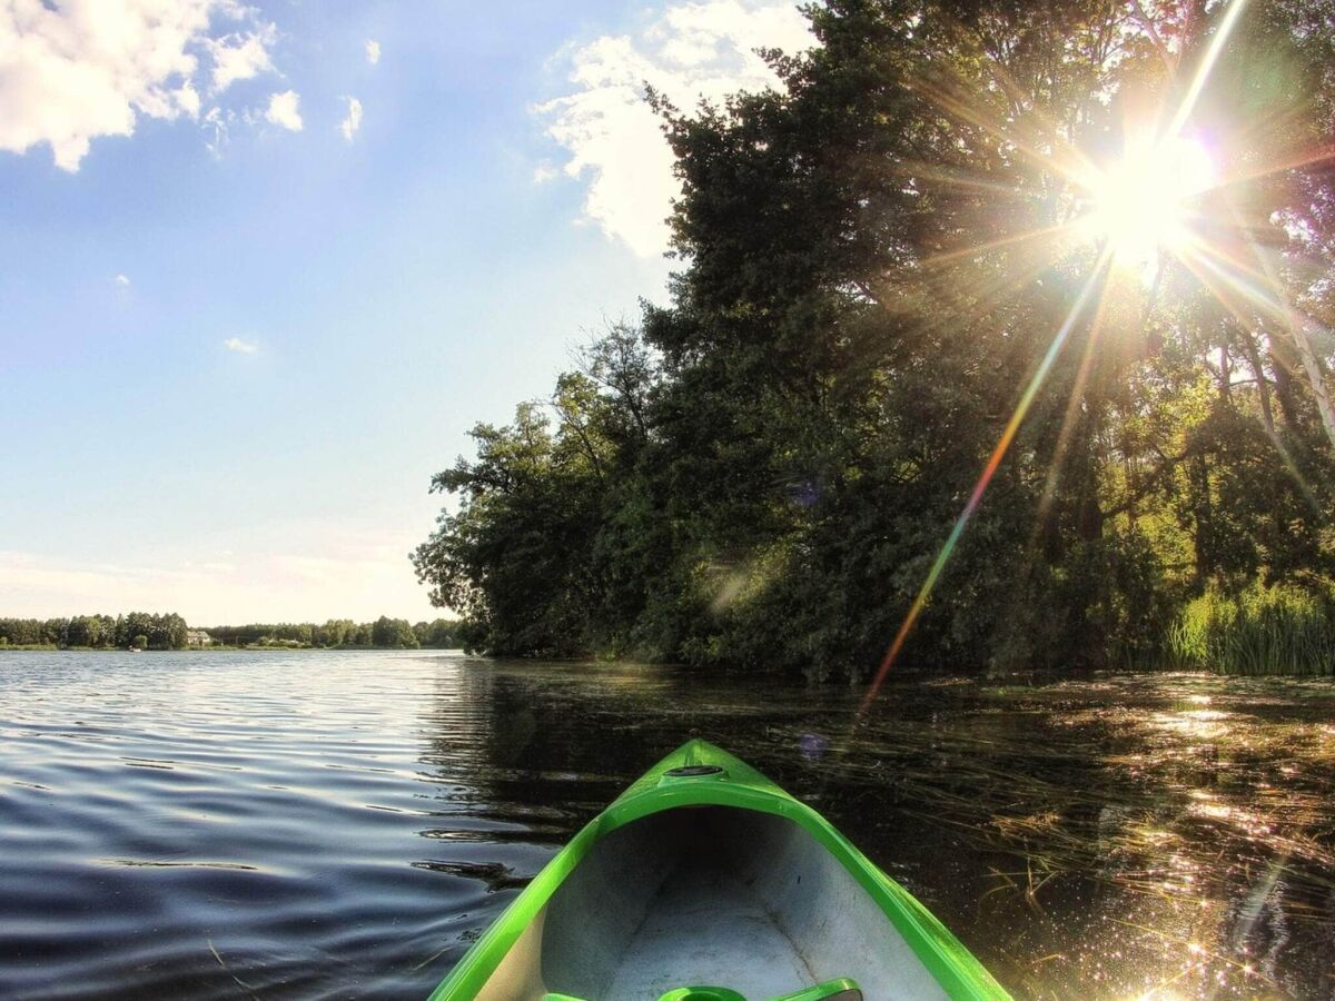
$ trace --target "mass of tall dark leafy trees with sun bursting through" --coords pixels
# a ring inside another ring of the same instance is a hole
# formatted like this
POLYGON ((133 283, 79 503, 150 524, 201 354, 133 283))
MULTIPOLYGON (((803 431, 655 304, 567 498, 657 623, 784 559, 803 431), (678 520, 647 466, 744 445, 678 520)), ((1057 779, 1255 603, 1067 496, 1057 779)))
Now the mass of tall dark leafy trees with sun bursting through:
POLYGON ((433 599, 507 655, 1330 671, 1322 9, 830 0, 777 89, 650 95, 670 303, 435 476, 433 599))

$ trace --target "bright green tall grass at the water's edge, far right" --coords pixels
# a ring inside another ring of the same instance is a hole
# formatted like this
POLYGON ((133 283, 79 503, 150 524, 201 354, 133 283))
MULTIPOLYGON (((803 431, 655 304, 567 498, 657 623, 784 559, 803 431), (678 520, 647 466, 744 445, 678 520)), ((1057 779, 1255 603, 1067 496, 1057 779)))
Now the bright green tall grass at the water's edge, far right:
POLYGON ((1183 670, 1240 675, 1335 674, 1335 590, 1254 583, 1207 590, 1168 630, 1167 654, 1183 670))

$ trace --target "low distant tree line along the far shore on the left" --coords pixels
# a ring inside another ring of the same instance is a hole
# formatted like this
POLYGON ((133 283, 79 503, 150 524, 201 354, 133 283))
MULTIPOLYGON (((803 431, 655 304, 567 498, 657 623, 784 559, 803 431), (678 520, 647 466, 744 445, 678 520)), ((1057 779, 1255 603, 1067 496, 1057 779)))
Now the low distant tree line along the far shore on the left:
MULTIPOLYGON (((73 618, 0 618, 0 647, 53 646, 93 650, 183 650, 190 645, 190 626, 180 615, 132 611, 125 615, 75 615, 73 618)), ((328 619, 323 625, 252 623, 210 626, 210 642, 222 646, 282 647, 374 647, 454 649, 462 646, 459 623, 438 618, 410 623, 380 615, 375 622, 328 619)))

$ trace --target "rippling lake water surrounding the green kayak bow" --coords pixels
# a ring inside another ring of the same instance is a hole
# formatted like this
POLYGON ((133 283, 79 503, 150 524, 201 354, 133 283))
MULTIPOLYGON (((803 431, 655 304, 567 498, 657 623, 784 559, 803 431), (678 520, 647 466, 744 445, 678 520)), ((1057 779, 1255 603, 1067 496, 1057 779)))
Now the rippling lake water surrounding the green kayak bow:
POLYGON ((0 997, 422 997, 701 735, 1019 996, 1335 997, 1335 686, 0 654, 0 997))

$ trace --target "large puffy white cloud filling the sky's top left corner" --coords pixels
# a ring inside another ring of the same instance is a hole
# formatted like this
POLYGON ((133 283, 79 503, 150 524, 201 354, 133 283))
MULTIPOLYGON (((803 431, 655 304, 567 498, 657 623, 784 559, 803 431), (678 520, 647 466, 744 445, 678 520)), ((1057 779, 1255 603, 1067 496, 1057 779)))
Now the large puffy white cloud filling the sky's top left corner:
POLYGON ((57 167, 76 171, 93 139, 132 135, 142 115, 198 117, 198 53, 208 57, 216 92, 271 65, 274 33, 239 0, 8 0, 0 149, 45 143, 57 167), (215 37, 215 21, 248 29, 215 37))

